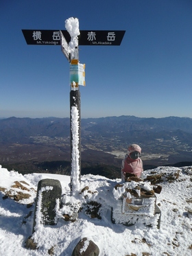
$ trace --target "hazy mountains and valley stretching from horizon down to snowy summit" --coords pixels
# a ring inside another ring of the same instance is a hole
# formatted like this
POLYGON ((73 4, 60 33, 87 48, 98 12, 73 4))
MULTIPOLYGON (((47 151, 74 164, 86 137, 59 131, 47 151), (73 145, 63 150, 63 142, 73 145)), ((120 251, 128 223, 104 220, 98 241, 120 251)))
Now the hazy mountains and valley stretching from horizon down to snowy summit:
MULTIPOLYGON (((141 146, 146 166, 192 161, 192 119, 188 117, 82 119, 81 139, 84 167, 119 167, 129 143, 141 146)), ((44 162, 70 158, 69 118, 0 119, 0 164, 44 166, 44 162)))

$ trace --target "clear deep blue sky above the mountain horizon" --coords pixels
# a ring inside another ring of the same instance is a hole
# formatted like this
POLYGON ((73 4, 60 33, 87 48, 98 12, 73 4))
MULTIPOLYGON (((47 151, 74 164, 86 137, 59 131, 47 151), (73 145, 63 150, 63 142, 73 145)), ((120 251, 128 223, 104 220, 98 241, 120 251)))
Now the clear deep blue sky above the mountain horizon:
POLYGON ((0 117, 69 117, 69 62, 25 30, 125 30, 120 46, 80 46, 81 115, 191 117, 191 0, 1 0, 0 117))

